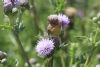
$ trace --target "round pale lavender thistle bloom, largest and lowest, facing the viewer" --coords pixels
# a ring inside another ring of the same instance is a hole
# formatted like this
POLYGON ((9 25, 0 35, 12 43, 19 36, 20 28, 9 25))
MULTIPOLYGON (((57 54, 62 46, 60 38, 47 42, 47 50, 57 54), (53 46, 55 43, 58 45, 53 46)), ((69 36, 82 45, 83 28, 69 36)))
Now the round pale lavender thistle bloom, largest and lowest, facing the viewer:
POLYGON ((54 42, 52 39, 46 38, 38 41, 36 46, 36 52, 41 57, 46 57, 52 53, 54 50, 54 42))

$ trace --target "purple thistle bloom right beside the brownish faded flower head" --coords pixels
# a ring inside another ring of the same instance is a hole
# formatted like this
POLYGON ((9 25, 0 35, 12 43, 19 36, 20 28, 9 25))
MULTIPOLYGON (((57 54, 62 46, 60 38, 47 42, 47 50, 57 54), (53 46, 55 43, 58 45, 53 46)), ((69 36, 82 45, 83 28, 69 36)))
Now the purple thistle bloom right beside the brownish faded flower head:
POLYGON ((58 20, 59 20, 62 28, 66 27, 70 23, 68 17, 66 15, 63 15, 63 14, 58 15, 58 20))

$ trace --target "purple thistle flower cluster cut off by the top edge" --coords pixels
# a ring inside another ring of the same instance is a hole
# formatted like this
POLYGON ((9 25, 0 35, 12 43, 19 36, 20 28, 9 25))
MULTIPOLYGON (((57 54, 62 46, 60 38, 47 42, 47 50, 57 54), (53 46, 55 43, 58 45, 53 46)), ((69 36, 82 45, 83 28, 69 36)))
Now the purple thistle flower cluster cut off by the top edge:
POLYGON ((18 6, 29 6, 28 0, 3 0, 3 3, 5 13, 12 12, 12 9, 17 8, 18 6))

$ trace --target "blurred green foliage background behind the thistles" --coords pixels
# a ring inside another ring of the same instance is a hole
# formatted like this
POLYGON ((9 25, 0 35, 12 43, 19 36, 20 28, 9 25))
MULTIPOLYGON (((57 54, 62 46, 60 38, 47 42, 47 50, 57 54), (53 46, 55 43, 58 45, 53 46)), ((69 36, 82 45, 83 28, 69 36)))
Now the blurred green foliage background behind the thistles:
MULTIPOLYGON (((30 0, 31 5, 32 2, 30 0)), ((50 14, 65 13, 64 10, 67 7, 73 7, 77 10, 74 28, 67 31, 69 36, 67 43, 62 43, 64 46, 54 55, 54 67, 85 67, 84 63, 90 55, 92 58, 87 67, 96 67, 100 63, 100 56, 99 59, 96 58, 98 54, 100 55, 100 44, 92 51, 94 43, 91 40, 94 39, 96 31, 100 31, 98 24, 100 18, 93 21, 93 18, 100 13, 100 0, 34 0, 34 4, 36 14, 33 14, 31 10, 24 11, 22 22, 25 29, 19 34, 29 58, 36 59, 36 64, 44 67, 47 60, 37 56, 35 46, 37 40, 47 30, 47 17, 50 14), (36 27, 36 21, 40 29, 36 27), (71 58, 73 58, 72 66, 70 66, 71 58)), ((11 30, 5 27, 7 25, 9 25, 9 18, 5 16, 3 3, 0 0, 0 51, 7 53, 7 63, 0 64, 0 67, 24 67, 25 63, 11 30)), ((100 42, 100 32, 96 36, 96 42, 100 42)), ((33 67, 36 67, 36 64, 33 64, 33 67)))

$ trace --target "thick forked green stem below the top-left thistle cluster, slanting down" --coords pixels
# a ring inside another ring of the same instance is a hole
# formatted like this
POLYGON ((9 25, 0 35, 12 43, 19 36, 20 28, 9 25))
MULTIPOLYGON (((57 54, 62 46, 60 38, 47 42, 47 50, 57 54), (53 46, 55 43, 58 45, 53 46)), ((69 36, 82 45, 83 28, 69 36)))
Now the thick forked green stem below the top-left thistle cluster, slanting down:
POLYGON ((16 22, 15 22, 15 20, 13 18, 10 18, 11 19, 11 25, 13 26, 12 33, 13 33, 14 38, 15 38, 17 44, 18 44, 19 50, 21 51, 23 59, 27 62, 28 67, 31 67, 31 64, 29 62, 28 56, 27 56, 27 54, 26 54, 26 52, 25 52, 25 50, 24 50, 24 48, 22 46, 22 43, 20 41, 19 32, 17 31, 17 28, 15 26, 16 24, 19 24, 21 22, 22 14, 23 14, 23 12, 21 12, 21 10, 19 10, 18 19, 17 19, 16 22))

